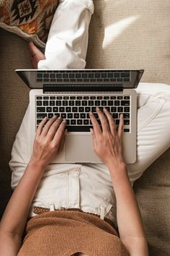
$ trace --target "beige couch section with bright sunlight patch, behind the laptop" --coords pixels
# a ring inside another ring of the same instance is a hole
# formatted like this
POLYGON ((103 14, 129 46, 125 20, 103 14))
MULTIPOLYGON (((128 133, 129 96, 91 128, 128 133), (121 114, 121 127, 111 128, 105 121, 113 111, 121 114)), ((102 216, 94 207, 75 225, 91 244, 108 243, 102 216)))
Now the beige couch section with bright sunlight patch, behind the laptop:
POLYGON ((145 69, 141 82, 170 85, 170 1, 94 0, 87 68, 145 69))

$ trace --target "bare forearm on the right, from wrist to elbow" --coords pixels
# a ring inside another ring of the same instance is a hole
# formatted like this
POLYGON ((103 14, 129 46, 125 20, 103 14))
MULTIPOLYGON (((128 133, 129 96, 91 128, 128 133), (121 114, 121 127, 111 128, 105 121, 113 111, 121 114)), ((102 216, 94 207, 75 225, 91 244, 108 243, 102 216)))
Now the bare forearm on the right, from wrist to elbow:
POLYGON ((112 184, 115 190, 117 200, 117 226, 120 233, 120 239, 124 242, 129 252, 134 244, 138 243, 138 252, 135 255, 148 255, 148 246, 143 229, 143 221, 140 216, 138 202, 131 187, 128 178, 128 172, 125 164, 120 165, 115 170, 114 166, 109 167, 112 178, 112 184), (117 176, 114 174, 119 173, 117 176), (131 241, 131 242, 130 242, 131 241), (140 249, 139 249, 140 248, 140 249))

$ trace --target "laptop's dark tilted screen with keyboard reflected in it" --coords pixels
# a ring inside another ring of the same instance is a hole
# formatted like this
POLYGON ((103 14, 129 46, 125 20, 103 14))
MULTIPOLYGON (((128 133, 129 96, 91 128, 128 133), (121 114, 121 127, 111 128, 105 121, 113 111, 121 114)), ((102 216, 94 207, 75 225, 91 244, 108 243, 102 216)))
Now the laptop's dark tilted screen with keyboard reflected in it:
POLYGON ((60 69, 60 70, 16 70, 30 89, 51 90, 115 90, 115 88, 137 88, 143 69, 60 69))

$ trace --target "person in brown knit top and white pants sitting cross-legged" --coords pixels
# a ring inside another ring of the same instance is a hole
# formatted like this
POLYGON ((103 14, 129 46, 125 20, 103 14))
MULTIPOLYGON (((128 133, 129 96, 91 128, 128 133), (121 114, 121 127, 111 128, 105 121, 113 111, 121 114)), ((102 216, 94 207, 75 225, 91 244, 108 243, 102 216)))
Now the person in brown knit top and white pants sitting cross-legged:
MULTIPOLYGON (((59 1, 45 55, 30 43, 33 67, 84 69, 93 12, 91 0, 59 1)), ((28 106, 9 162, 14 192, 0 223, 0 255, 148 255, 133 182, 169 148, 170 88, 140 83, 136 90, 133 164, 123 158, 123 116, 116 129, 106 108, 97 109, 102 129, 89 115, 94 151, 103 164, 50 164, 63 148, 66 130, 57 116, 42 120, 30 154, 28 106)))

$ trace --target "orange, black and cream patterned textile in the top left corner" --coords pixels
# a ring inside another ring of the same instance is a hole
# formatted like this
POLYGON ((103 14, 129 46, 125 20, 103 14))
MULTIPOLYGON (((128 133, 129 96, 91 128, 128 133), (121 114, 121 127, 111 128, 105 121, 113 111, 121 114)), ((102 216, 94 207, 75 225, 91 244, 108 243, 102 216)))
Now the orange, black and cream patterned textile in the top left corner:
POLYGON ((0 0, 0 27, 45 47, 58 0, 0 0))

